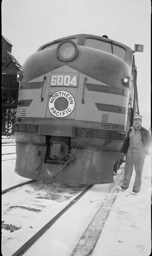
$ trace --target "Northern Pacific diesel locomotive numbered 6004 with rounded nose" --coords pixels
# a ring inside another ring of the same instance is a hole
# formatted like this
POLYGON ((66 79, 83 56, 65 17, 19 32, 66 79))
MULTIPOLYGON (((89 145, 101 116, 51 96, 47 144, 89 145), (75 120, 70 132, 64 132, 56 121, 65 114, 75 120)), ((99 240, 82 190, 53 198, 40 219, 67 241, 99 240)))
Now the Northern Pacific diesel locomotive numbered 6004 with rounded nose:
POLYGON ((71 185, 113 183, 120 147, 139 113, 135 51, 107 36, 76 34, 26 59, 17 73, 17 174, 71 185))

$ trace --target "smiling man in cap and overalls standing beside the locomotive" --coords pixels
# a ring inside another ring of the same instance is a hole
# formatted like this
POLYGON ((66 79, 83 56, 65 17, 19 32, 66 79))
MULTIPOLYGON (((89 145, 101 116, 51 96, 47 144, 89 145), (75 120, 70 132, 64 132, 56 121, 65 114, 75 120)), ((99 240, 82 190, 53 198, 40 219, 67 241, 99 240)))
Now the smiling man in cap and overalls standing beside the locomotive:
POLYGON ((129 128, 126 140, 120 152, 127 154, 126 165, 124 167, 123 184, 119 190, 125 191, 129 187, 132 176, 133 165, 135 166, 135 183, 133 184, 132 194, 137 194, 141 189, 141 176, 144 167, 145 156, 149 153, 150 134, 141 126, 142 116, 137 114, 134 118, 133 127, 129 128))

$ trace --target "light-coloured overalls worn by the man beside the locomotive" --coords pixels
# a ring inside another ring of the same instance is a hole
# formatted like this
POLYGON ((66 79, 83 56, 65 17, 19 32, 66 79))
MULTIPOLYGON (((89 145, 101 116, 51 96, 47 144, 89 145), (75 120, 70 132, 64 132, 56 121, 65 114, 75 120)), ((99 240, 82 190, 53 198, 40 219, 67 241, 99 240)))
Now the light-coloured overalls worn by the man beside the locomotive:
POLYGON ((129 187, 134 165, 136 177, 135 183, 133 184, 133 191, 139 192, 141 188, 141 176, 144 167, 145 152, 141 141, 141 127, 138 130, 135 130, 134 127, 131 127, 131 129, 122 187, 125 189, 129 187))

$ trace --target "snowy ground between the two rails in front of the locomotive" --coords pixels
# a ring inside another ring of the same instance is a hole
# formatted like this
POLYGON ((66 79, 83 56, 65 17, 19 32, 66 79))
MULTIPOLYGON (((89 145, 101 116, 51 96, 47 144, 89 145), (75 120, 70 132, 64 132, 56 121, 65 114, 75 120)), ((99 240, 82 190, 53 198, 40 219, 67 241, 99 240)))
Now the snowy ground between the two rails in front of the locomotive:
POLYGON ((35 181, 2 195, 3 256, 12 255, 84 188, 35 181), (5 224, 19 229, 12 232, 5 224))

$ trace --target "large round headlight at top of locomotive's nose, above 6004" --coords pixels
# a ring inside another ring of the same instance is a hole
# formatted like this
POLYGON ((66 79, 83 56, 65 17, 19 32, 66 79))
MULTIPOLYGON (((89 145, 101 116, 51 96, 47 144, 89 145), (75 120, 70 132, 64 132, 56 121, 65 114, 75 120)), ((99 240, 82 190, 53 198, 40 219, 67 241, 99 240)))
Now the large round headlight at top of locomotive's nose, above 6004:
POLYGON ((70 61, 77 57, 78 47, 73 41, 64 40, 57 46, 56 54, 60 60, 70 61))

